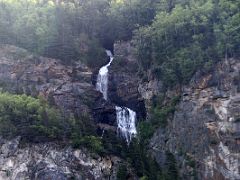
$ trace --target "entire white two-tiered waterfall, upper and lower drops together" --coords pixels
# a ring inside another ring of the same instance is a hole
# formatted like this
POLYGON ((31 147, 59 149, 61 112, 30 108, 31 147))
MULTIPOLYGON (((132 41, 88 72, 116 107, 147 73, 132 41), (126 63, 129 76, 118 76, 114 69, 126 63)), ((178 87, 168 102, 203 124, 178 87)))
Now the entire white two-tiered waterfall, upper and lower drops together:
MULTIPOLYGON (((103 94, 103 98, 108 98, 108 67, 111 65, 114 57, 111 51, 106 50, 110 61, 107 65, 103 66, 98 73, 96 89, 103 94)), ((116 106, 118 133, 126 139, 129 144, 132 137, 136 136, 136 112, 127 108, 116 106)))

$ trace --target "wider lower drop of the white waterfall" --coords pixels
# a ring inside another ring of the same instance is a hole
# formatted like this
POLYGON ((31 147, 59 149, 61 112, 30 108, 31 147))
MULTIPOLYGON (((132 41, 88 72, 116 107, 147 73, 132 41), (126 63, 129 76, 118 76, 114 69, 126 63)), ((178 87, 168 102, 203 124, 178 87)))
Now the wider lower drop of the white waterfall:
POLYGON ((129 144, 137 134, 136 112, 126 107, 116 106, 118 132, 129 144))

